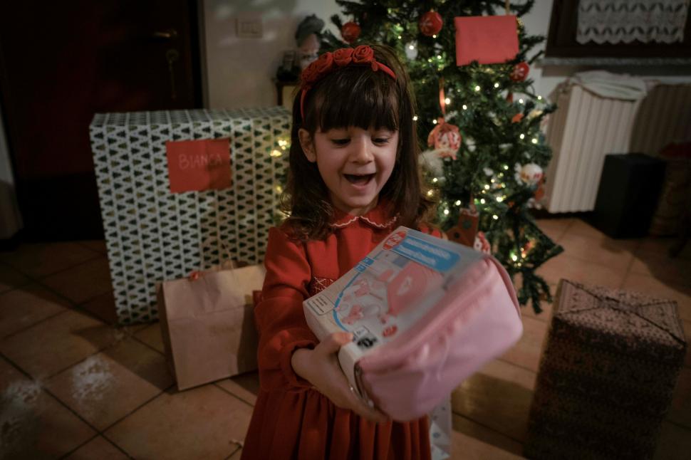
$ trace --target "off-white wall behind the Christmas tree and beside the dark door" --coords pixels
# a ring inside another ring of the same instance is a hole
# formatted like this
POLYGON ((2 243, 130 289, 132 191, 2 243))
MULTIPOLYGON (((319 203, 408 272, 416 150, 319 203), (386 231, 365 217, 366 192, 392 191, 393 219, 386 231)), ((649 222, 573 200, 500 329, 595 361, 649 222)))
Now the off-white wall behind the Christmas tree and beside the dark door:
MULTIPOLYGON (((546 36, 553 0, 536 0, 522 20, 531 34, 546 36)), ((276 89, 271 78, 276 75, 283 52, 295 48, 298 23, 309 14, 323 19, 340 36, 329 17, 341 10, 334 0, 204 0, 206 70, 209 108, 248 108, 276 105, 276 89), (242 13, 259 13, 264 23, 263 38, 237 38, 235 19, 242 13)), ((452 26, 446 21, 445 26, 452 26)), ((544 48, 534 48, 534 52, 544 48)), ((549 96, 552 90, 586 67, 533 65, 529 76, 537 94, 549 96)), ((690 75, 678 68, 606 68, 616 73, 653 75, 668 82, 690 82, 690 75)))

